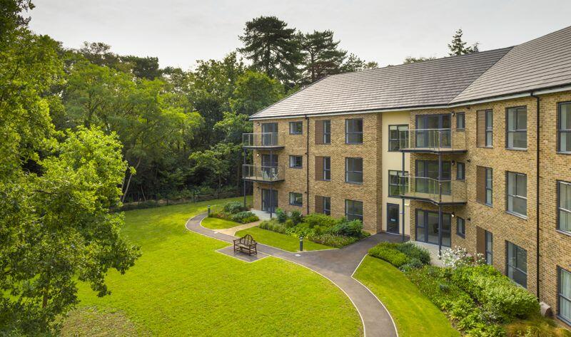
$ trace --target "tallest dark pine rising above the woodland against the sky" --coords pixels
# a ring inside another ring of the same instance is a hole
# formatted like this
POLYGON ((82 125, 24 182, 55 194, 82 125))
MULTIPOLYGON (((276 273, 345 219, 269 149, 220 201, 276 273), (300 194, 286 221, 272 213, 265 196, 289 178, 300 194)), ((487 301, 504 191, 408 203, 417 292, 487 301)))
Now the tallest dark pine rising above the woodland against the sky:
POLYGON ((295 28, 288 28, 288 24, 276 16, 260 16, 246 22, 239 38, 244 46, 238 50, 252 61, 253 68, 282 83, 297 81, 302 56, 295 28))

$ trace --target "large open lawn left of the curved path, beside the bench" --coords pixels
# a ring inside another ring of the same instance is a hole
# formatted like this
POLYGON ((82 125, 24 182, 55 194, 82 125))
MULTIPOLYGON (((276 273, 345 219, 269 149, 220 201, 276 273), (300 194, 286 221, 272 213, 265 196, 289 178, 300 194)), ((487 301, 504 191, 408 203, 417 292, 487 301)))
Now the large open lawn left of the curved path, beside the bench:
POLYGON ((80 310, 64 322, 67 336, 113 336, 113 331, 152 336, 233 336, 237 331, 244 336, 362 335, 349 299, 322 276, 274 257, 246 263, 215 252, 227 243, 189 232, 184 224, 206 212, 207 204, 213 201, 126 212, 121 233, 140 245, 143 255, 126 274, 109 272, 109 296, 98 298, 88 285, 79 284, 80 310), (101 333, 98 325, 103 323, 94 316, 118 316, 125 328, 113 326, 101 333))

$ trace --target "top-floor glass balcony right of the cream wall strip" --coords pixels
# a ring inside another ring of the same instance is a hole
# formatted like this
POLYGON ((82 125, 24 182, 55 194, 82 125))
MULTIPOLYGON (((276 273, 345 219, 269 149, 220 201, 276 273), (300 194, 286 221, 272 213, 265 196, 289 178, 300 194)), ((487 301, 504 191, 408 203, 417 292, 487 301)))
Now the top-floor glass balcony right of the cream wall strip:
POLYGON ((457 129, 415 129, 399 131, 400 151, 419 153, 466 152, 466 133, 457 129))

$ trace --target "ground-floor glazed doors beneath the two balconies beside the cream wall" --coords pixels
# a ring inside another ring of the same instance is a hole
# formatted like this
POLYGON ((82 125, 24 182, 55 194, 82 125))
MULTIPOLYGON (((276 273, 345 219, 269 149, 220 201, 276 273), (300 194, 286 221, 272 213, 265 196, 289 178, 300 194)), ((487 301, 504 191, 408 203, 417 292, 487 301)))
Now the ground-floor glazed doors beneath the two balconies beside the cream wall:
MULTIPOLYGON (((442 214, 442 245, 450 247, 450 213, 442 214)), ((438 212, 416 210, 416 241, 438 244, 438 212)))

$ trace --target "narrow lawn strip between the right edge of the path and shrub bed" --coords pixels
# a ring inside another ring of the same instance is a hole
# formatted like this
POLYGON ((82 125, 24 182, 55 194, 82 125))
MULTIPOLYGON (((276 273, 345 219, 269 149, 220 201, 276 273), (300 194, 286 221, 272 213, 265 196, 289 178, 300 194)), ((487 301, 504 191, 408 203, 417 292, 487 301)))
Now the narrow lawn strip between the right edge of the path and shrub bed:
POLYGON ((355 279, 387 307, 399 336, 460 336, 444 313, 388 262, 366 256, 355 279))

